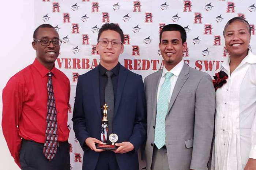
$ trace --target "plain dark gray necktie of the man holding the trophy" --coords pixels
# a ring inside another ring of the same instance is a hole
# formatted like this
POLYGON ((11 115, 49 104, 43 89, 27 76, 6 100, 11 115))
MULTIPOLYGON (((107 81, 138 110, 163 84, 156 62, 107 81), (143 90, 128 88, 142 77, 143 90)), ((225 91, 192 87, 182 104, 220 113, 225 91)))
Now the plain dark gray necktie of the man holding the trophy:
MULTIPOLYGON (((114 115, 114 90, 113 90, 113 83, 111 76, 113 75, 112 71, 107 71, 106 76, 108 77, 108 82, 105 87, 105 103, 108 106, 108 136, 113 133, 112 130, 112 120, 114 115)), ((108 143, 112 143, 109 141, 109 138, 107 140, 108 143)))

